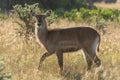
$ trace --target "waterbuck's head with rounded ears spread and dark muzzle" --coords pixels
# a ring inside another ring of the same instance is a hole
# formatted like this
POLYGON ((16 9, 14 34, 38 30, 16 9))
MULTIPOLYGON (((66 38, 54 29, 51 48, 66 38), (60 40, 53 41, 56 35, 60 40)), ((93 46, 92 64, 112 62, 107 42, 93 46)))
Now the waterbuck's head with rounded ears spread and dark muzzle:
POLYGON ((50 16, 51 10, 47 11, 45 14, 36 14, 36 12, 34 11, 31 11, 31 12, 32 12, 32 16, 36 18, 37 27, 40 28, 40 27, 46 26, 45 18, 50 16))

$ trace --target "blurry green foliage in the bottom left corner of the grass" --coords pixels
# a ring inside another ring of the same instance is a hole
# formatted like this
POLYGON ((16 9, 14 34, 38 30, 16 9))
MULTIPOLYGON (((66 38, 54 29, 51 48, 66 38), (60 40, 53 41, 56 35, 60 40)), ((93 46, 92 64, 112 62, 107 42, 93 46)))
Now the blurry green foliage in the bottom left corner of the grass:
POLYGON ((0 59, 0 80, 10 80, 12 75, 9 72, 4 72, 4 61, 0 59))

